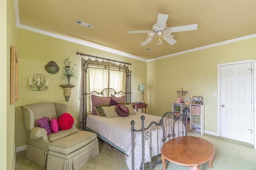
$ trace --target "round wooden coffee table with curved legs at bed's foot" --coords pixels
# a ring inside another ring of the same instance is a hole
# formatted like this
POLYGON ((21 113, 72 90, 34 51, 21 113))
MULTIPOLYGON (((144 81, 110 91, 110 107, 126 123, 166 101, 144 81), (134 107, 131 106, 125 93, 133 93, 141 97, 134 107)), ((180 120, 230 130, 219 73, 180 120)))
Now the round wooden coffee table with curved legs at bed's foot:
POLYGON ((191 170, 200 170, 199 165, 209 161, 209 167, 213 168, 214 153, 213 145, 202 138, 194 136, 173 138, 161 148, 163 170, 166 169, 165 160, 178 165, 190 166, 191 170))

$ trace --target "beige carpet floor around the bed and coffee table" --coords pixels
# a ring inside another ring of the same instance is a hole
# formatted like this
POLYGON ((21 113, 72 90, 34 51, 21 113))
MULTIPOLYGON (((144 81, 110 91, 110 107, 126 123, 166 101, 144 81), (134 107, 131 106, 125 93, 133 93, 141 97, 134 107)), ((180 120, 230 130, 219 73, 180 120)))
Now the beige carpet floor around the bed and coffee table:
MULTIPOLYGON (((190 134, 193 135, 193 134, 190 134)), ((198 135, 193 135, 198 136, 198 135)), ((215 156, 212 168, 208 162, 201 165, 201 170, 256 170, 256 150, 253 145, 227 138, 204 134, 202 137, 211 142, 215 148, 215 156)), ((81 170, 128 170, 125 156, 110 145, 99 139, 100 155, 92 158, 81 170)), ((26 151, 18 152, 16 155, 15 170, 42 170, 43 167, 26 160, 26 151)), ((161 170, 162 164, 157 165, 154 170, 161 170)), ((180 166, 168 162, 167 170, 189 170, 189 167, 180 166)))

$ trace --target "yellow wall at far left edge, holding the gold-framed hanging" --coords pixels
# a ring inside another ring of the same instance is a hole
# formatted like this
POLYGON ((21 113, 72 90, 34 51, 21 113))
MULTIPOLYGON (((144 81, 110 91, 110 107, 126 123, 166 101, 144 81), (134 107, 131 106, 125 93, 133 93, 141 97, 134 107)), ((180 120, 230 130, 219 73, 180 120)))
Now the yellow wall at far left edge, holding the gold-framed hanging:
POLYGON ((0 169, 12 170, 15 159, 15 107, 10 105, 10 46, 16 47, 16 21, 12 0, 1 1, 0 12, 0 169))

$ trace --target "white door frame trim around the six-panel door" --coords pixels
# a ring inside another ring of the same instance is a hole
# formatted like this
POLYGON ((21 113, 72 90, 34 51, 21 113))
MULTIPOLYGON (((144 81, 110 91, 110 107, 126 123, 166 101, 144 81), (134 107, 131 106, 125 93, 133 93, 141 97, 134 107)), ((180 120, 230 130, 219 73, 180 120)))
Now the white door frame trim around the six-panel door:
MULTIPOLYGON (((256 116, 254 116, 254 106, 256 106, 256 79, 254 79, 254 75, 256 75, 256 61, 255 59, 245 60, 245 61, 236 61, 231 63, 221 63, 218 64, 218 136, 220 136, 220 66, 223 65, 232 65, 232 64, 242 64, 242 63, 252 63, 252 144, 256 141, 256 116)), ((256 149, 256 144, 254 144, 254 149, 256 149)))

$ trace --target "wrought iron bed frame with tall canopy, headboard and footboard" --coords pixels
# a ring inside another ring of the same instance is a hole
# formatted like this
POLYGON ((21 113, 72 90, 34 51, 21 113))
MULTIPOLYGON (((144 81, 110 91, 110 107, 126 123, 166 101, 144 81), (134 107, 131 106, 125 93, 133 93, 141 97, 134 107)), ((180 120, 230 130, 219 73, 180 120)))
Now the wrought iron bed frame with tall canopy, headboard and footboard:
MULTIPOLYGON (((88 59, 90 60, 90 59, 88 59)), ((91 110, 88 109, 88 106, 90 106, 90 99, 91 95, 98 95, 101 97, 109 97, 110 94, 121 97, 125 95, 126 101, 131 103, 131 71, 129 71, 128 67, 125 66, 120 66, 120 65, 115 65, 113 63, 108 62, 99 62, 99 61, 91 61, 88 62, 88 60, 82 59, 82 82, 81 82, 81 89, 82 89, 82 126, 83 130, 88 130, 86 129, 86 120, 87 116, 91 115, 91 110), (107 64, 106 64, 107 63, 107 64), (87 73, 88 73, 88 68, 96 68, 96 69, 109 69, 109 70, 115 70, 115 71, 122 71, 126 73, 126 85, 125 85, 125 91, 115 91, 112 88, 106 88, 103 89, 102 91, 92 91, 88 92, 87 90, 87 73)), ((160 146, 164 144, 167 140, 170 140, 171 138, 177 137, 177 136, 184 136, 187 135, 187 111, 184 110, 183 114, 179 115, 176 117, 174 113, 172 112, 167 112, 162 116, 162 119, 160 119, 159 122, 152 121, 148 127, 144 127, 144 121, 145 117, 141 116, 141 128, 140 129, 135 129, 135 121, 131 121, 131 148, 132 148, 132 170, 134 170, 134 135, 136 133, 141 132, 141 141, 142 141, 142 148, 141 148, 141 153, 142 153, 142 162, 141 162, 141 169, 152 169, 155 165, 160 164, 161 159, 159 157, 160 154, 160 146), (176 129, 176 124, 178 123, 178 132, 175 133, 176 129), (181 129, 179 129, 181 124, 181 129), (152 162, 152 156, 155 156, 152 154, 152 132, 155 131, 157 135, 157 154, 156 154, 156 162, 152 162), (162 134, 161 140, 158 141, 158 137, 162 134), (149 143, 149 150, 150 150, 150 161, 146 161, 144 159, 144 144, 145 141, 149 143)), ((137 123, 137 122, 136 122, 137 123)), ((97 134, 99 138, 102 138, 100 134, 97 134)), ((104 136, 103 136, 104 137, 104 136)), ((103 139, 103 138, 102 138, 103 139)), ((114 144, 111 141, 106 141, 112 148, 114 148, 114 144)), ((122 148, 115 147, 116 149, 120 150, 124 154, 124 150, 122 148)), ((127 155, 127 154, 126 154, 127 155)))

